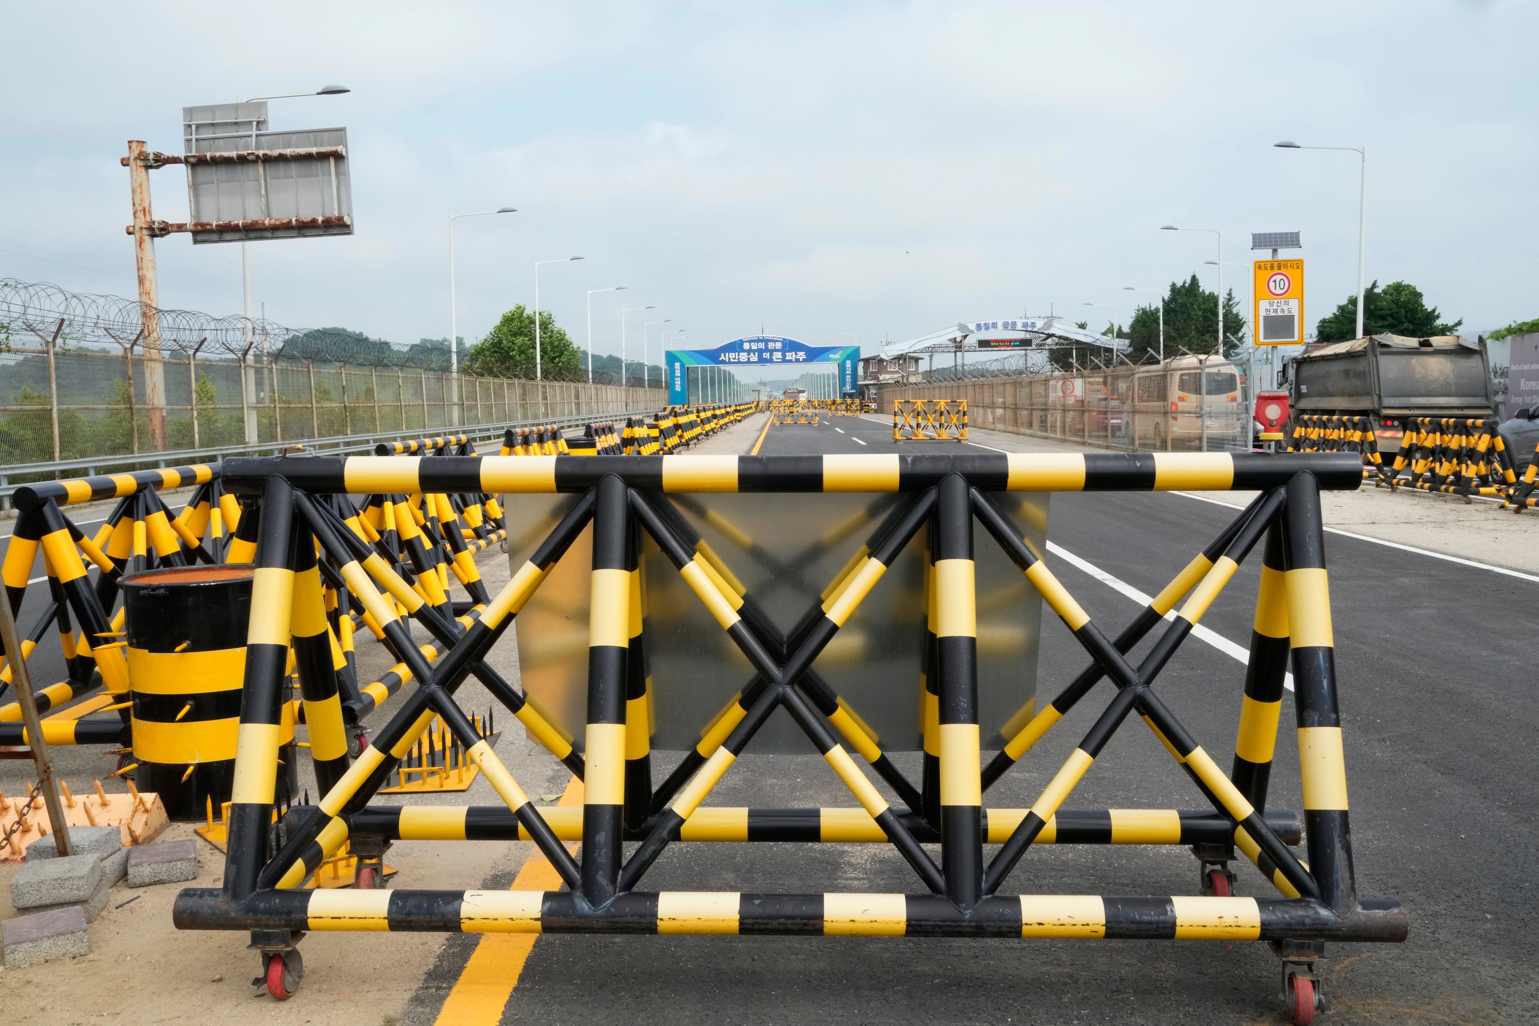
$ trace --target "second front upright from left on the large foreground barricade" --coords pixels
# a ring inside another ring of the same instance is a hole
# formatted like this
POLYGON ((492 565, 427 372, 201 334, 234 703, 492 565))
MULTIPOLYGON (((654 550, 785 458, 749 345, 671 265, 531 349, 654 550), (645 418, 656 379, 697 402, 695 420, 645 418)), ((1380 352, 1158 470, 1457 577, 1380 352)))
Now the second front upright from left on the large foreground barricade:
POLYGON ((599 481, 593 514, 588 612, 588 731, 583 760, 582 895, 593 906, 617 894, 625 829, 626 655, 631 545, 625 481, 599 481))

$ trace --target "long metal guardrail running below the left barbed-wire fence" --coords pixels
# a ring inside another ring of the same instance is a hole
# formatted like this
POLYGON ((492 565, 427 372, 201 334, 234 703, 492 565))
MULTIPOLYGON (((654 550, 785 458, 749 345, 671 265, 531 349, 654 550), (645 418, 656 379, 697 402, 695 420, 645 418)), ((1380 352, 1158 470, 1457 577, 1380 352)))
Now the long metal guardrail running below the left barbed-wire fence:
MULTIPOLYGON (((571 428, 586 425, 594 420, 619 420, 625 417, 648 417, 659 411, 623 411, 596 412, 582 417, 540 417, 536 420, 502 421, 494 425, 451 425, 440 428, 436 434, 469 435, 472 441, 489 438, 502 440, 502 432, 508 428, 532 428, 537 425, 556 425, 571 428)), ((325 451, 328 454, 363 452, 372 455, 374 446, 380 441, 396 441, 400 438, 432 437, 434 432, 425 429, 412 431, 376 431, 360 435, 332 435, 326 438, 305 438, 303 441, 265 441, 257 445, 217 446, 209 449, 177 449, 169 452, 139 452, 128 455, 82 457, 78 460, 52 460, 49 463, 14 463, 0 466, 0 512, 11 511, 11 495, 23 485, 12 485, 17 477, 34 474, 55 474, 60 471, 85 471, 80 477, 95 477, 105 468, 157 468, 188 466, 192 463, 217 463, 232 455, 277 455, 288 449, 305 448, 325 451)))

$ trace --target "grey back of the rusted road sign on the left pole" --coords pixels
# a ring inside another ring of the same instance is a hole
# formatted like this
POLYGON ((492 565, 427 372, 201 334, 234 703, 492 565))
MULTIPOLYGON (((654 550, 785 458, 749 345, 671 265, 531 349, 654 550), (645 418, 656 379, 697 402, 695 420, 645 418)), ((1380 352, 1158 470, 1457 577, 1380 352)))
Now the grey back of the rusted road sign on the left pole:
POLYGON ((182 108, 194 243, 352 234, 348 129, 268 129, 268 105, 182 108), (202 158, 195 158, 202 157, 202 158))

